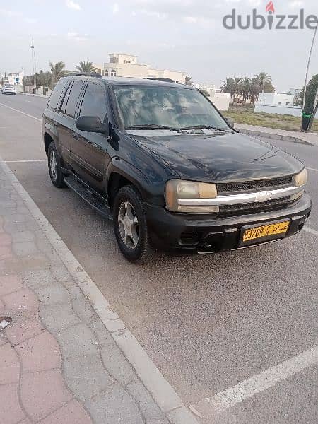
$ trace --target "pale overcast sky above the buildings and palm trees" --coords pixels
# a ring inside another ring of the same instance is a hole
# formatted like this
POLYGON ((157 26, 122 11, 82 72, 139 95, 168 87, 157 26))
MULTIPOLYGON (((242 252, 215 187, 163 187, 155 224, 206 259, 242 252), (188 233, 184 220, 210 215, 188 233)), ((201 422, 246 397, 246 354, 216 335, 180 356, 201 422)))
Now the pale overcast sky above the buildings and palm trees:
MULTIPOLYGON (((226 30, 223 16, 252 8, 268 16, 269 0, 28 0, 0 2, 0 72, 31 73, 50 61, 74 69, 108 54, 136 54, 140 63, 184 71, 196 82, 270 73, 277 90, 303 86, 313 30, 226 30)), ((276 14, 318 15, 317 0, 273 0, 276 14)), ((246 18, 244 18, 246 19, 246 18)), ((245 20, 243 20, 245 22, 245 20)), ((318 73, 318 35, 310 75, 318 73)))

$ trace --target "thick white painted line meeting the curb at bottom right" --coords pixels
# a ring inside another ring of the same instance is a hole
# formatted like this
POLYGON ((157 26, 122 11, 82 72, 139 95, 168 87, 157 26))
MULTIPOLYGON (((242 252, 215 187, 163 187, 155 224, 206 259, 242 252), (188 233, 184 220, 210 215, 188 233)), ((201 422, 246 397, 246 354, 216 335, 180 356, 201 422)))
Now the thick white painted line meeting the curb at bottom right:
POLYGON ((233 387, 220 391, 211 398, 204 399, 204 401, 194 405, 194 408, 200 410, 200 405, 209 406, 212 408, 213 413, 220 413, 317 363, 318 346, 315 346, 261 372, 261 374, 254 375, 233 387))

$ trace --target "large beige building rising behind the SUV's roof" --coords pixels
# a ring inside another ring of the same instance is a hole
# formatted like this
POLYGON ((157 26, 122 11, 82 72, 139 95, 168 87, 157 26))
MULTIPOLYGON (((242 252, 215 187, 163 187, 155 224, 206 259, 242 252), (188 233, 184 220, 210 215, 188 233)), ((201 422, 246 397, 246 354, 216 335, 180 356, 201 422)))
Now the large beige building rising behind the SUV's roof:
POLYGON ((178 83, 185 83, 185 73, 155 69, 149 65, 139 64, 137 57, 131 54, 110 54, 110 61, 98 66, 102 76, 124 76, 132 78, 169 78, 178 83))

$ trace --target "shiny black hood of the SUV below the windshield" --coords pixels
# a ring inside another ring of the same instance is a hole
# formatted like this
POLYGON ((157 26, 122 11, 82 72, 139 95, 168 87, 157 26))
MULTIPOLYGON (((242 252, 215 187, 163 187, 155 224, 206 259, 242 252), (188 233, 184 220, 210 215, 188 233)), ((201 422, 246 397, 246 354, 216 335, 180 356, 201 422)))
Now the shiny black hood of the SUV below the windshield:
POLYGON ((303 168, 288 153, 240 133, 134 135, 134 139, 182 179, 235 182, 293 175, 303 168))

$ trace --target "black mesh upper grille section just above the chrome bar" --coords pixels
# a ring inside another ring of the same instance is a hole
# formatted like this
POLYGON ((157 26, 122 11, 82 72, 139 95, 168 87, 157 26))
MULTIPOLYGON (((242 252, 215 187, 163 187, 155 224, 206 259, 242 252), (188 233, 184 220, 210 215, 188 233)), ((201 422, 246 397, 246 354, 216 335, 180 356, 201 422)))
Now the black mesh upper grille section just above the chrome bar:
POLYGON ((293 177, 262 179, 259 181, 226 182, 218 184, 218 193, 249 192, 250 190, 281 188, 293 183, 293 177))

